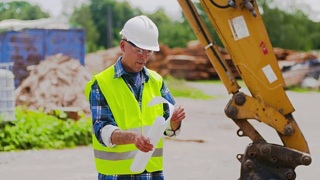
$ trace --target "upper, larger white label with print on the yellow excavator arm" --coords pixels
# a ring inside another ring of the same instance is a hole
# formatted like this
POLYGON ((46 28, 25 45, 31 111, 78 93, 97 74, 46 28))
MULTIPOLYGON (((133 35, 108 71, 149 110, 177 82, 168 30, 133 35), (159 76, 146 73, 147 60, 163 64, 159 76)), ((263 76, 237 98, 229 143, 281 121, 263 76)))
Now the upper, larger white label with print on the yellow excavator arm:
POLYGON ((250 36, 243 15, 228 19, 234 40, 250 36))

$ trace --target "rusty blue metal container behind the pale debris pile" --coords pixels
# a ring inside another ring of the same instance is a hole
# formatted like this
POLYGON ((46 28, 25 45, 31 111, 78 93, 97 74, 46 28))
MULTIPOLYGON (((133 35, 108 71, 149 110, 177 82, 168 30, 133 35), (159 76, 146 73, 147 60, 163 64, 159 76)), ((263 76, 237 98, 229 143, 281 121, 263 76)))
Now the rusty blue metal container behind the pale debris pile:
POLYGON ((0 34, 0 62, 13 62, 15 87, 29 75, 26 67, 62 53, 84 65, 84 29, 23 29, 0 34))

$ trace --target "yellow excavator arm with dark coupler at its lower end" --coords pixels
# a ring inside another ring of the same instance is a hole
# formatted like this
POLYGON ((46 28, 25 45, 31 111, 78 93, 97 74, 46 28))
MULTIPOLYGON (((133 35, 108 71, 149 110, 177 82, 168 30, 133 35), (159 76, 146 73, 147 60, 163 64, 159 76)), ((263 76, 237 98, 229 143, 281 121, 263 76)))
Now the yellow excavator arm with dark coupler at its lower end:
POLYGON ((249 89, 239 85, 190 0, 178 0, 210 62, 232 98, 224 111, 238 126, 238 136, 252 140, 243 154, 239 179, 295 179, 297 165, 311 163, 308 145, 292 116, 285 83, 255 0, 200 0, 224 47, 249 89), (267 143, 247 121, 276 130, 283 145, 267 143))

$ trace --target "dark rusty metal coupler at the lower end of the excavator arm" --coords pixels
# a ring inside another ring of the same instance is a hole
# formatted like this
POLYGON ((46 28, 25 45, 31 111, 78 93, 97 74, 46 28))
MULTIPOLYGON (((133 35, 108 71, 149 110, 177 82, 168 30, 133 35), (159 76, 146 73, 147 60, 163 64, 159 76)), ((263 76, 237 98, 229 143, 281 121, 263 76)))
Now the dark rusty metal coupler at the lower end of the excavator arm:
POLYGON ((295 167, 309 164, 311 157, 281 145, 251 143, 241 155, 240 162, 240 180, 293 180, 295 167))

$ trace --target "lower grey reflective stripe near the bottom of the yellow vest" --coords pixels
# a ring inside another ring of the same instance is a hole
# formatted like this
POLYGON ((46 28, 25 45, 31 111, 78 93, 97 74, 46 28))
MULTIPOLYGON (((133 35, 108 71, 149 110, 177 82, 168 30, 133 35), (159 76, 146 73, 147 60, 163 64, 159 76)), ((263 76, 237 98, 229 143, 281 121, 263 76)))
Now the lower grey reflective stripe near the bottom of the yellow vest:
MULTIPOLYGON (((138 150, 131 150, 127 152, 106 152, 102 150, 96 150, 94 151, 94 157, 98 159, 103 160, 125 160, 125 159, 132 159, 134 158, 136 152, 138 150)), ((152 153, 151 157, 161 157, 163 155, 163 149, 162 148, 156 148, 154 152, 152 153)))

